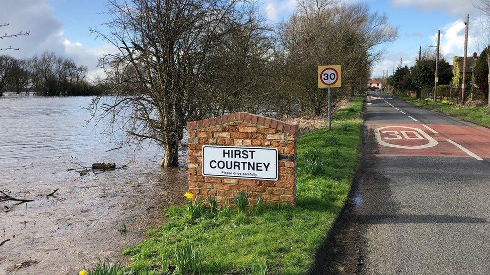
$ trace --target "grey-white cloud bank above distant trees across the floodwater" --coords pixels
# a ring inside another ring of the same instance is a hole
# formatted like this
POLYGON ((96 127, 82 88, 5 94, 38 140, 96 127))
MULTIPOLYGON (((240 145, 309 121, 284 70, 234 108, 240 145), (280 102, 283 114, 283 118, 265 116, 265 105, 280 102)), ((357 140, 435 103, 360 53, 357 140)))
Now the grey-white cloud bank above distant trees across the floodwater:
POLYGON ((2 51, 0 54, 26 58, 44 51, 54 52, 72 58, 78 65, 87 66, 90 79, 93 79, 100 73, 97 69, 98 59, 114 49, 108 45, 86 47, 80 42, 68 40, 63 24, 52 16, 52 12, 46 0, 3 1, 0 23, 9 23, 10 26, 2 27, 0 31, 10 34, 27 31, 30 35, 0 40, 0 48, 20 48, 19 51, 2 51))

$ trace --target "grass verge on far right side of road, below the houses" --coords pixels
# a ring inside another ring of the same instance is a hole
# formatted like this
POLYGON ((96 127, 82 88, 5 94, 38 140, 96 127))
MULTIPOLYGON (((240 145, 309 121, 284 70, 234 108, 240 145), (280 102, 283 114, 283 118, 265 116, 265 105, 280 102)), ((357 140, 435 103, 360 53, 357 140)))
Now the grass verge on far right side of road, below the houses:
POLYGON ((417 106, 424 106, 434 111, 441 112, 450 116, 454 116, 474 124, 490 127, 490 115, 486 112, 486 106, 477 107, 461 107, 458 105, 447 105, 440 102, 429 101, 424 105, 422 99, 416 99, 405 94, 393 94, 394 97, 411 102, 417 106))

